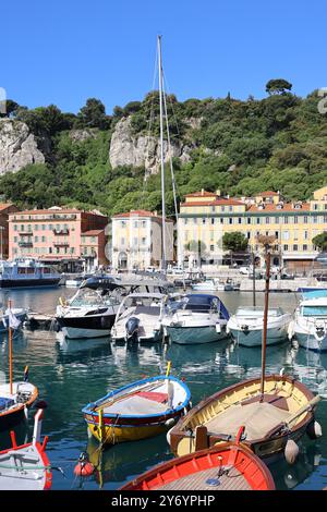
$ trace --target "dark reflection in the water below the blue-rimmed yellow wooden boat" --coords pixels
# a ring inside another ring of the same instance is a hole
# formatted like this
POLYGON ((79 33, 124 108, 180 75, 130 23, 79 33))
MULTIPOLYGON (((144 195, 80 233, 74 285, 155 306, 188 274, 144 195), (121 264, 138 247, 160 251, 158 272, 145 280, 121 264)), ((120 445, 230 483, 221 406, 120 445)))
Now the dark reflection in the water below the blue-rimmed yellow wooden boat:
POLYGON ((132 475, 138 475, 147 468, 171 459, 166 436, 143 439, 132 443, 121 443, 100 450, 99 443, 88 439, 86 452, 95 466, 95 477, 99 484, 105 481, 122 483, 132 475))

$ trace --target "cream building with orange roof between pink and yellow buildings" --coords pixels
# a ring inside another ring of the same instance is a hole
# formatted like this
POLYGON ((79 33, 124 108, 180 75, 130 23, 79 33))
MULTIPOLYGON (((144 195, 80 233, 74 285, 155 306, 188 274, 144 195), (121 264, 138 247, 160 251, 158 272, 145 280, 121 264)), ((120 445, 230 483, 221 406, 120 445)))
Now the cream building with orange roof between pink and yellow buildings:
MULTIPOLYGON (((160 267, 162 218, 157 212, 131 210, 112 217, 112 266, 116 269, 144 270, 160 267)), ((173 222, 166 219, 166 261, 173 259, 173 222)))

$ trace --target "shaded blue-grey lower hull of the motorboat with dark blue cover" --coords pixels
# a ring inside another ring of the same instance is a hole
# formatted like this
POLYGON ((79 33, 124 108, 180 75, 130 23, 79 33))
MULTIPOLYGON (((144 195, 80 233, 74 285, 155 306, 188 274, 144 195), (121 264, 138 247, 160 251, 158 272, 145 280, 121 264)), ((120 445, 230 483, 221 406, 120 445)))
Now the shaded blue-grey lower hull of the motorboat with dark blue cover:
POLYGON ((211 343, 214 341, 225 340, 228 336, 225 329, 221 329, 221 332, 217 332, 216 326, 206 326, 206 327, 167 326, 166 329, 172 343, 178 343, 180 345, 211 343))

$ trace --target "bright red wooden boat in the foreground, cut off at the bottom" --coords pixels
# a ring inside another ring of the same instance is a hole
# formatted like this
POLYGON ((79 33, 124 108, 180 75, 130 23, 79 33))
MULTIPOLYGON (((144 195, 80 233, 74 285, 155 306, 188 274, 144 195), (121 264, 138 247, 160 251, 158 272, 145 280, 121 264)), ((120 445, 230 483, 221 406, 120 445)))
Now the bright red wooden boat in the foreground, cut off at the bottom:
POLYGON ((267 466, 235 442, 201 450, 159 464, 120 490, 275 490, 267 466))

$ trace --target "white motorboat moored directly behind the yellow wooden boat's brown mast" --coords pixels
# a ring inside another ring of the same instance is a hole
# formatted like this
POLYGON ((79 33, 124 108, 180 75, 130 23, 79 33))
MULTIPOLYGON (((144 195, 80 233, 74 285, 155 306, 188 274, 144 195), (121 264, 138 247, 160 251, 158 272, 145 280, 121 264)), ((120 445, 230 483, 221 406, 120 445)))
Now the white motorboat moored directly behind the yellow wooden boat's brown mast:
MULTIPOLYGON (((288 339, 291 319, 292 315, 280 307, 268 309, 267 345, 281 343, 288 339)), ((258 306, 239 307, 227 324, 227 331, 244 346, 262 346, 263 328, 264 308, 258 306)))

